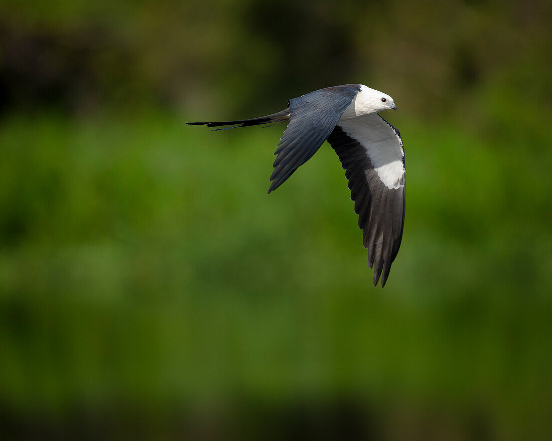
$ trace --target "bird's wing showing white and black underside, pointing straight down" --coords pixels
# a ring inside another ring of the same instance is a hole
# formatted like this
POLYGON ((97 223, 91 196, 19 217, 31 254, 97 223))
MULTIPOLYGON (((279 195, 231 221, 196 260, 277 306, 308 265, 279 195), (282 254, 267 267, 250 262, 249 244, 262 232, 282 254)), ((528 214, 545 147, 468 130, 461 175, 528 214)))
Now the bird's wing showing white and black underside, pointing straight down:
POLYGON ((339 121, 328 137, 349 180, 374 286, 381 286, 401 245, 405 222, 405 155, 399 131, 378 114, 339 121), (383 274, 382 274, 383 270, 383 274))

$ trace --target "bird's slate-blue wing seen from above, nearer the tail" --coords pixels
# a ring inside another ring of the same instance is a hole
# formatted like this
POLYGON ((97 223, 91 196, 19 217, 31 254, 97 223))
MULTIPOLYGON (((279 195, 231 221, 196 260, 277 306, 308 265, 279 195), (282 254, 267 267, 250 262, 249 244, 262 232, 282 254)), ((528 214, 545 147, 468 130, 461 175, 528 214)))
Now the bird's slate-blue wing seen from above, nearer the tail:
POLYGON ((274 160, 269 193, 316 153, 358 92, 358 84, 346 84, 289 100, 288 128, 274 153, 278 157, 274 160))

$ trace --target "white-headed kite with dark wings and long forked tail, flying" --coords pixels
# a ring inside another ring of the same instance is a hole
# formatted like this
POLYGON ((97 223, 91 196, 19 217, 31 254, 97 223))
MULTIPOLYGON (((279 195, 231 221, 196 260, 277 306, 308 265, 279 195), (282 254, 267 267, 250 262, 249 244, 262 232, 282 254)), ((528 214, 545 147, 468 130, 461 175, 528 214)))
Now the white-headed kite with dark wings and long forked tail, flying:
POLYGON ((188 124, 235 128, 288 121, 274 153, 269 193, 328 141, 345 169, 374 286, 381 276, 384 287, 401 245, 406 182, 400 133, 378 114, 388 109, 397 110, 391 96, 363 84, 344 84, 290 99, 287 109, 272 115, 188 124))

